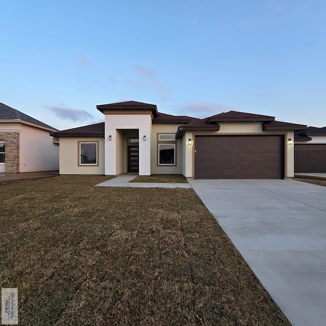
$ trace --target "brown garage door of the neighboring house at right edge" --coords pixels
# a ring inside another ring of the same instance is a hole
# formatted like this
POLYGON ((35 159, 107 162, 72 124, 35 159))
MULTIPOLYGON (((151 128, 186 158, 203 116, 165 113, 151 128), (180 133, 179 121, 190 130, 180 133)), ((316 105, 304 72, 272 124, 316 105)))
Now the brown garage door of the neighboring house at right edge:
POLYGON ((326 144, 295 144, 294 173, 326 173, 326 144))

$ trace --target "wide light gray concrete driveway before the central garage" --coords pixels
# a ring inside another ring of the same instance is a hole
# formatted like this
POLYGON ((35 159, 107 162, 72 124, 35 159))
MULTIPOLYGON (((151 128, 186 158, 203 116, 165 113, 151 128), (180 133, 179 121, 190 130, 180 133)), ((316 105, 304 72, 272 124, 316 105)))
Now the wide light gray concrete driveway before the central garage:
POLYGON ((293 326, 326 324, 326 187, 189 181, 293 326))

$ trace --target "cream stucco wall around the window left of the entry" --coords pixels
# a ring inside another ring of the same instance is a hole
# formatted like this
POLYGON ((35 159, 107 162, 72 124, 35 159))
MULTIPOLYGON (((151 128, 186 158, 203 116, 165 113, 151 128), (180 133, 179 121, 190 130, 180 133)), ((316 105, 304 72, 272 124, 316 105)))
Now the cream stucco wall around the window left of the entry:
POLYGON ((102 137, 61 137, 60 174, 104 175, 104 139, 102 137), (98 141, 98 166, 78 166, 78 141, 98 141))

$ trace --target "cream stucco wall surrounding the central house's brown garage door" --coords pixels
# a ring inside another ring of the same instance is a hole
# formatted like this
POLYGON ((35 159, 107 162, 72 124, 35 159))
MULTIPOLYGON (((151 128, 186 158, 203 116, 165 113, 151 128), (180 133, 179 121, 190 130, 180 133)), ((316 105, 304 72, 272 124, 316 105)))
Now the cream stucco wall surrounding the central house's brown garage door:
POLYGON ((190 132, 187 131, 182 137, 182 146, 184 150, 185 167, 182 168, 182 174, 189 179, 194 178, 194 160, 195 160, 195 136, 196 134, 205 135, 223 135, 223 134, 270 134, 284 135, 284 177, 294 176, 294 146, 288 145, 288 139, 294 139, 293 131, 262 131, 262 124, 259 122, 241 122, 241 123, 219 123, 220 130, 216 132, 190 132), (187 145, 188 139, 192 139, 193 145, 187 145))

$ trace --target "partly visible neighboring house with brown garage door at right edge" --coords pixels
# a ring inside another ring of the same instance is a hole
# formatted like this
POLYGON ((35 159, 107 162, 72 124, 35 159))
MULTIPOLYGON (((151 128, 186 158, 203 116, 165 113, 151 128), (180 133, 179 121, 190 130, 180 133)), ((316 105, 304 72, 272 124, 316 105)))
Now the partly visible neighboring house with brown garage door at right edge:
POLYGON ((294 133, 294 172, 326 173, 326 127, 294 133))

